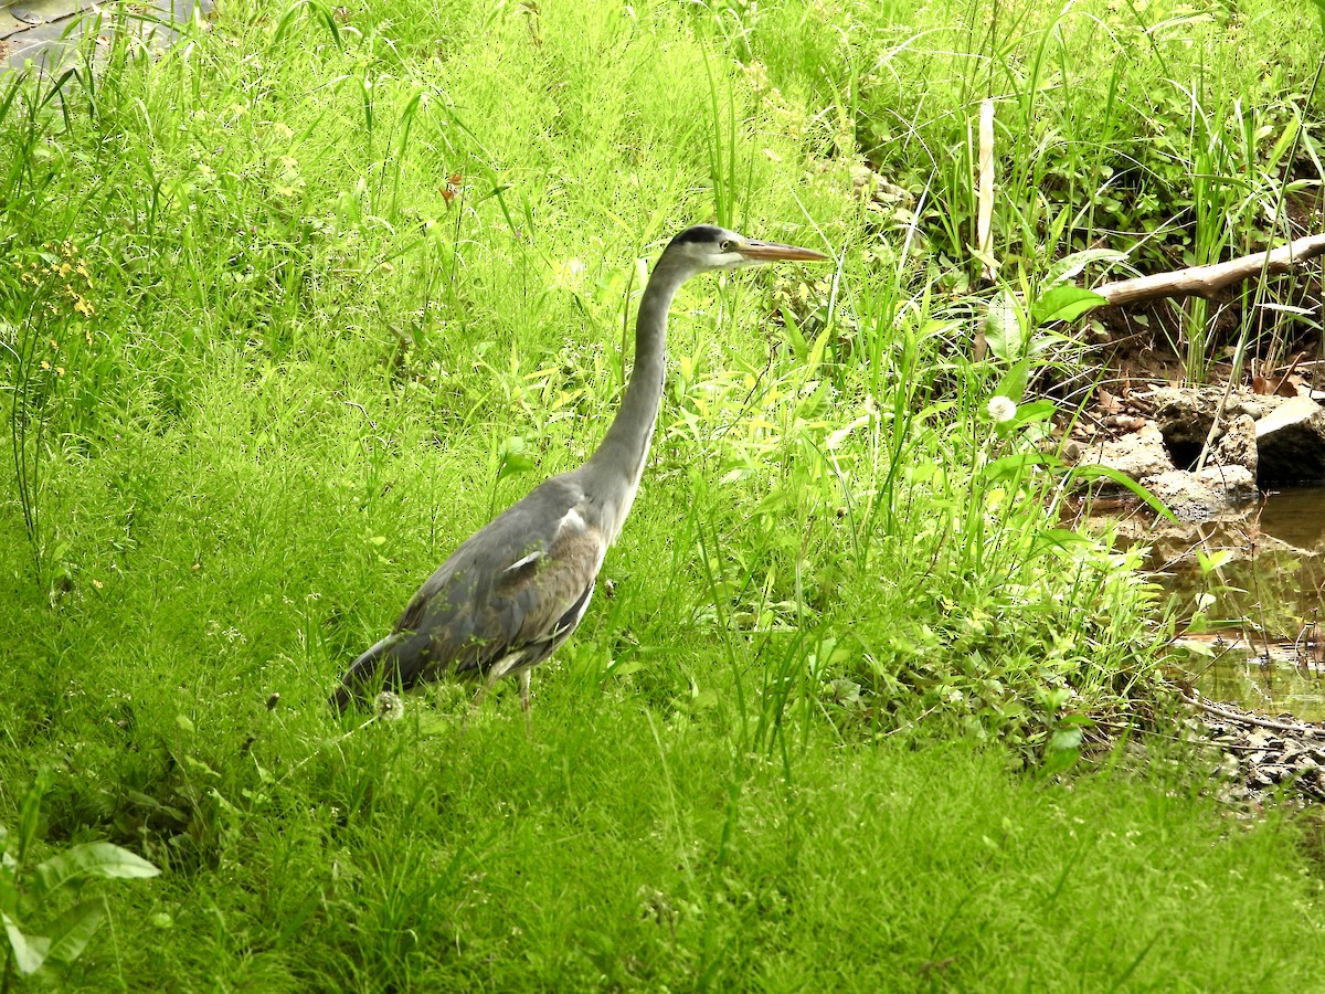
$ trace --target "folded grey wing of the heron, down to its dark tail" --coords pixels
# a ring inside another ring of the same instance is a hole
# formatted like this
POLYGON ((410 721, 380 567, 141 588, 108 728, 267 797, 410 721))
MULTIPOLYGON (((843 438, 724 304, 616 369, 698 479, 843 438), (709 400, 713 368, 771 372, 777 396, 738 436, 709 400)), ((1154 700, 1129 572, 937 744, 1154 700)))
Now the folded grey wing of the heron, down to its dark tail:
POLYGON ((496 680, 551 655, 583 618, 607 551, 583 506, 558 477, 477 531, 419 588, 392 635, 351 665, 337 702, 383 668, 408 688, 448 673, 496 680))

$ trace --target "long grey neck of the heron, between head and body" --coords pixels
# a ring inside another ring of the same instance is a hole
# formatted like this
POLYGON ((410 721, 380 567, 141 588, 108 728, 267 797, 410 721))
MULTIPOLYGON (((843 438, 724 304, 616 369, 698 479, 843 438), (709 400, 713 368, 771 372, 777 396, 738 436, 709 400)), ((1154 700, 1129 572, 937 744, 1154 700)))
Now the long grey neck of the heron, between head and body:
POLYGON ((631 382, 612 427, 584 465, 586 474, 598 485, 596 492, 607 496, 603 524, 610 539, 616 538, 625 521, 644 474, 666 378, 666 314, 688 276, 690 273, 669 265, 666 258, 660 258, 653 268, 635 322, 631 382))

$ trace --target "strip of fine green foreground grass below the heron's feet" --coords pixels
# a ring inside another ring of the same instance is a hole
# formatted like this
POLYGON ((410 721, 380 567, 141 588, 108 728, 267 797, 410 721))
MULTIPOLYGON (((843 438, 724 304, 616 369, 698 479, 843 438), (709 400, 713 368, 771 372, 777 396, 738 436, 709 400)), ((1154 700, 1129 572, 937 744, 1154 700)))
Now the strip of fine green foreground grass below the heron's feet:
MULTIPOLYGON (((564 676, 531 732, 511 700, 464 730, 416 710, 295 769, 317 720, 285 704, 250 701, 242 738, 205 714, 130 733, 139 763, 178 762, 192 820, 159 881, 114 892, 115 941, 68 989, 1314 983, 1293 832, 1230 823, 1177 777, 1068 787, 934 741, 820 738, 783 763, 713 712, 564 676)), ((86 802, 80 773, 52 828, 86 802)), ((101 803, 135 806, 109 785, 101 803)))

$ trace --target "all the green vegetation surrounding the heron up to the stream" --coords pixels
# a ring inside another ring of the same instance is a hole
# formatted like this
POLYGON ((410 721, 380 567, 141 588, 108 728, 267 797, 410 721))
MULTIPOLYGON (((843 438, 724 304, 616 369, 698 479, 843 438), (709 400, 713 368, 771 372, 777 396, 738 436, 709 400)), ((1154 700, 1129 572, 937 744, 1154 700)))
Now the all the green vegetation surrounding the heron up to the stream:
MULTIPOLYGON (((1057 525, 1075 411, 1027 386, 1089 380, 1047 322, 1118 253, 1283 231, 1320 174, 1306 9, 236 3, 11 78, 5 865, 162 871, 61 983, 1309 989, 1301 824, 1230 823, 1162 736, 1060 778, 1162 708, 1166 628, 1138 553, 1057 525), (682 293, 531 724, 447 687, 335 720, 419 580, 596 443, 700 220, 839 266, 682 293)), ((1302 333, 1265 313, 1244 353, 1302 333)))

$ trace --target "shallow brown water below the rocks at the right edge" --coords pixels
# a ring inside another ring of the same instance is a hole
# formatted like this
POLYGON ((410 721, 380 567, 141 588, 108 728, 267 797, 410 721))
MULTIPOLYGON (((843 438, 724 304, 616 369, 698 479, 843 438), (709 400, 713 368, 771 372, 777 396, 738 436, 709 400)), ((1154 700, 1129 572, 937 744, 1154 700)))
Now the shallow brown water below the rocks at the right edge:
POLYGON ((1325 721, 1325 486, 1271 493, 1259 517, 1154 539, 1155 579, 1190 637, 1171 656, 1211 700, 1325 721), (1206 557, 1228 557, 1202 569, 1206 557))

